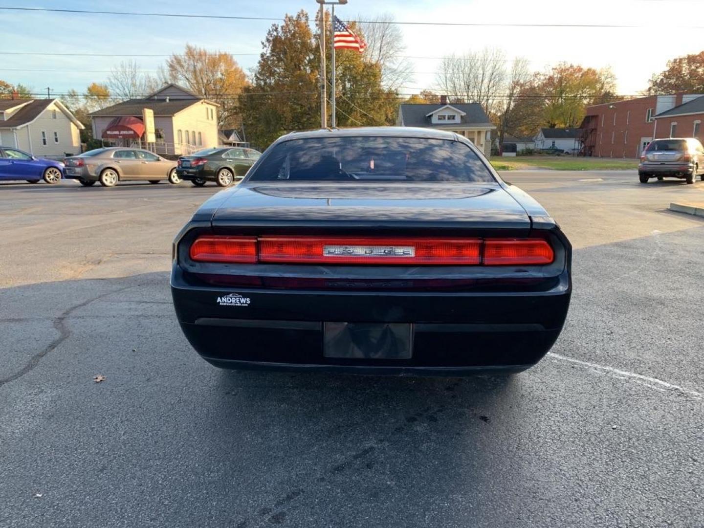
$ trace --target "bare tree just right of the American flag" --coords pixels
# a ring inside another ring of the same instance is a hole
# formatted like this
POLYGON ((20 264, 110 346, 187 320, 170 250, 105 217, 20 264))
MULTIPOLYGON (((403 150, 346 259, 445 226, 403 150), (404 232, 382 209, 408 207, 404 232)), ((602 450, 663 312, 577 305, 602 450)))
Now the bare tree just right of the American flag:
MULTIPOLYGON (((360 17, 362 18, 362 17, 360 17)), ((394 15, 383 13, 360 23, 367 42, 364 57, 382 70, 382 86, 396 90, 413 80, 413 64, 402 56, 406 51, 403 34, 394 24, 394 15)))

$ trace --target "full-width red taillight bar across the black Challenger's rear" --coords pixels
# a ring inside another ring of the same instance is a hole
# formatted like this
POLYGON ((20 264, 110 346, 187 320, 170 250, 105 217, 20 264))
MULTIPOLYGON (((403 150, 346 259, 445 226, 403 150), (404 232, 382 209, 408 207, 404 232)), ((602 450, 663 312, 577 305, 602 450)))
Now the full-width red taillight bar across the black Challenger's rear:
POLYGON ((196 262, 372 264, 372 265, 544 265, 555 252, 543 239, 458 239, 400 237, 229 237, 208 235, 191 245, 196 262))

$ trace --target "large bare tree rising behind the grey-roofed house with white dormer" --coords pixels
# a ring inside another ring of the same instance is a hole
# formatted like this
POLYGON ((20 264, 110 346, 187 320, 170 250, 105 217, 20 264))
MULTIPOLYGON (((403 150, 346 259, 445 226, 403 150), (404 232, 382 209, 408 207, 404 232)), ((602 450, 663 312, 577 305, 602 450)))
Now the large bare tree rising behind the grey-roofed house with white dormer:
POLYGON ((479 103, 490 114, 496 113, 506 77, 503 51, 485 48, 460 56, 444 56, 436 84, 441 93, 448 95, 448 101, 479 103))

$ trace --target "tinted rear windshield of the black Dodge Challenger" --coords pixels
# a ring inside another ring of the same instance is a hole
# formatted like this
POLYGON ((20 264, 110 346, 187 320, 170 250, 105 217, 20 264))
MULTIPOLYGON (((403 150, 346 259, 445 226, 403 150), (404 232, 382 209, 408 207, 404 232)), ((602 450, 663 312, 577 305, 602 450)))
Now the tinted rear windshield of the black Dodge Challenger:
POLYGON ((444 139, 332 137, 274 146, 251 173, 253 182, 494 182, 469 146, 444 139))

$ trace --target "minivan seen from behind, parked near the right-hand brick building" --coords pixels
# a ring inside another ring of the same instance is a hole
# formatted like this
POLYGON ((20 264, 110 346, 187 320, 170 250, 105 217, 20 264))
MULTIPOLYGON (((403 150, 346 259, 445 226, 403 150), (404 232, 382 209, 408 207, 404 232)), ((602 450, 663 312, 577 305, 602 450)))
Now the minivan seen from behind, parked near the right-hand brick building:
POLYGON ((697 176, 704 180, 704 146, 694 137, 654 139, 641 154, 638 176, 641 183, 666 176, 684 178, 689 184, 697 176))

